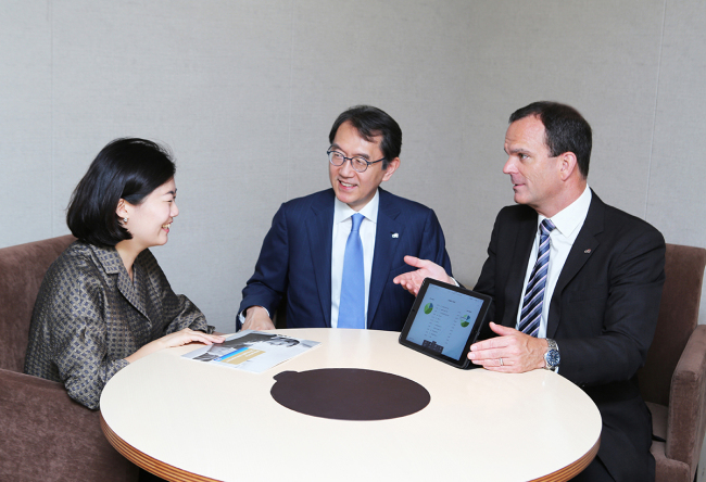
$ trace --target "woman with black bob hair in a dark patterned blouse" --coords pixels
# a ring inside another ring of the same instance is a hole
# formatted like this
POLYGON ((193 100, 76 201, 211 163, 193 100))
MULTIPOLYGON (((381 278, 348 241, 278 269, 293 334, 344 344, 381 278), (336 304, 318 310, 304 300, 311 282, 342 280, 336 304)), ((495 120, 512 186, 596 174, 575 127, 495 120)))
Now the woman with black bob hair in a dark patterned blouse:
POLYGON ((222 343, 186 296, 172 291, 149 248, 167 242, 176 206, 169 152, 116 139, 91 163, 66 214, 78 238, 49 267, 31 317, 25 373, 64 383, 99 407, 119 369, 190 342, 222 343))

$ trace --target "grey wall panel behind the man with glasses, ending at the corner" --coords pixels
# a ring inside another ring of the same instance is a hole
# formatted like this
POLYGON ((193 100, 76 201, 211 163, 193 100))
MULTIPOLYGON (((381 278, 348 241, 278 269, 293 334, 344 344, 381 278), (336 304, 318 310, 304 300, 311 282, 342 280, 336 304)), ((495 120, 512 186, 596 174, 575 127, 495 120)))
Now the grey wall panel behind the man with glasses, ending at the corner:
MULTIPOLYGON (((456 163, 461 157, 469 65, 467 2, 308 2, 294 14, 293 157, 305 163, 290 178, 291 196, 329 187, 324 151, 336 116, 368 103, 402 127, 400 169, 383 188, 434 208, 453 231, 456 163), (371 8, 375 5, 375 8, 371 8), (301 111, 301 112, 300 112, 301 111), (324 116, 324 122, 320 122, 324 116), (318 118, 317 118, 318 117, 318 118)), ((299 162, 299 161, 298 161, 299 162)), ((451 241, 451 240, 450 240, 451 241)), ((449 245, 454 259, 454 248, 449 245)))

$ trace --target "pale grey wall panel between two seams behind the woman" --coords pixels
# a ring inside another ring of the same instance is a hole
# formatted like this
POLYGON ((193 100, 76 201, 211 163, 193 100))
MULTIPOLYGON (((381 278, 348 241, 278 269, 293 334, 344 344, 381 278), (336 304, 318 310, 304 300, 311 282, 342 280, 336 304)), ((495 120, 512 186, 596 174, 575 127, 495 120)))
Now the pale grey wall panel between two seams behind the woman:
POLYGON ((286 200, 291 10, 74 1, 54 22, 56 204, 111 139, 168 144, 180 214, 152 251, 175 291, 232 330, 260 225, 286 200))

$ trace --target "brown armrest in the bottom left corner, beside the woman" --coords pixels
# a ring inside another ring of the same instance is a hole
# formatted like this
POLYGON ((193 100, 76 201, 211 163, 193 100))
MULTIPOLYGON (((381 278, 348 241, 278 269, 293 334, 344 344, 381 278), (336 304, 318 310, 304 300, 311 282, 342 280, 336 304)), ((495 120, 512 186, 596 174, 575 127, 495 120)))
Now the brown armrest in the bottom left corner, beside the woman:
POLYGON ((106 441, 98 411, 58 382, 0 369, 0 480, 137 481, 106 441))

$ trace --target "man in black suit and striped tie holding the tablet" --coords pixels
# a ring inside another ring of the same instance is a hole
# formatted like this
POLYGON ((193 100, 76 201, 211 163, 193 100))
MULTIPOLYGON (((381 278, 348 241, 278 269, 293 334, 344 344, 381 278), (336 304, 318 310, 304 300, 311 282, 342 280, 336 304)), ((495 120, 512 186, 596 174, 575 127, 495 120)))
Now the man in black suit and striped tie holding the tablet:
MULTIPOLYGON (((535 102, 509 122, 503 172, 519 205, 497 215, 475 287, 493 297, 486 334, 495 337, 468 357, 494 371, 551 369, 591 396, 601 447, 576 480, 654 480, 652 417, 636 372, 657 324, 663 236, 588 187, 591 127, 576 110, 535 102)), ((395 282, 412 292, 426 276, 453 282, 430 262, 406 261, 420 269, 395 282)), ((562 442, 538 443, 551 451, 562 442)))

